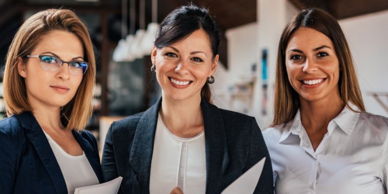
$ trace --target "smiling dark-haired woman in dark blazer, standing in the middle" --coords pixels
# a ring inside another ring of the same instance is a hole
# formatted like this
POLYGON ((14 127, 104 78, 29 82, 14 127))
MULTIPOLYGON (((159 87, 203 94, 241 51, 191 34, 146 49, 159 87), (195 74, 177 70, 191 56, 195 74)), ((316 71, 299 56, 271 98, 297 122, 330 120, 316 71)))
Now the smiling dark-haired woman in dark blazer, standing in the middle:
POLYGON ((182 6, 161 23, 152 52, 162 98, 114 122, 102 157, 119 193, 220 193, 263 157, 254 193, 273 193, 270 156, 253 117, 217 108, 209 84, 219 32, 204 8, 182 6))

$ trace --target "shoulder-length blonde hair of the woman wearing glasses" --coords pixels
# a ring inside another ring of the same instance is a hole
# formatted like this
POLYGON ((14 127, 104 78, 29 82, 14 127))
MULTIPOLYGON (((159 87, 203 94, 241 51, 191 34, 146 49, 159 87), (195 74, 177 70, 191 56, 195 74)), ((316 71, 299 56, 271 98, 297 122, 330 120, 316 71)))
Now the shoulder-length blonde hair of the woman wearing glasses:
POLYGON ((73 99, 61 108, 61 120, 66 128, 80 131, 92 114, 96 62, 93 44, 86 26, 70 10, 49 9, 28 18, 16 33, 7 53, 4 73, 4 100, 7 115, 32 111, 27 99, 24 78, 18 73, 18 61, 27 61, 26 55, 35 48, 40 38, 53 30, 75 34, 84 46, 84 58, 89 67, 73 99))

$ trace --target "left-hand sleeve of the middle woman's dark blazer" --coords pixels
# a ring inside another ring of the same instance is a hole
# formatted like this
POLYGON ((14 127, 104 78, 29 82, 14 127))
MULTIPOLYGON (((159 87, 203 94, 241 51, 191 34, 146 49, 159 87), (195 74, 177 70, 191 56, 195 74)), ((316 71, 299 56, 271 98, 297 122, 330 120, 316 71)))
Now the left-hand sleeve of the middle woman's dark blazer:
POLYGON ((101 168, 104 182, 110 181, 118 177, 112 139, 113 124, 114 122, 110 125, 109 130, 106 134, 104 151, 102 153, 101 168))

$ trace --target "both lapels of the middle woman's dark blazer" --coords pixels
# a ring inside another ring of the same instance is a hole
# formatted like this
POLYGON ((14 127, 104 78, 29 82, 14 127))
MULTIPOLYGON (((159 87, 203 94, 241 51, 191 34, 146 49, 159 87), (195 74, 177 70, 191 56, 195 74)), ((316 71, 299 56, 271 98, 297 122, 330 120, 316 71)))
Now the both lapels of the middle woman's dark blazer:
MULTIPOLYGON (((156 123, 162 98, 159 98, 151 108, 147 109, 139 120, 130 153, 130 164, 138 175, 141 193, 149 193, 151 160, 154 149, 156 123)), ((224 120, 220 110, 201 100, 204 116, 205 150, 206 150, 206 190, 214 191, 226 184, 222 180, 223 173, 229 161, 224 120)), ((172 189, 172 188, 171 188, 172 189)))

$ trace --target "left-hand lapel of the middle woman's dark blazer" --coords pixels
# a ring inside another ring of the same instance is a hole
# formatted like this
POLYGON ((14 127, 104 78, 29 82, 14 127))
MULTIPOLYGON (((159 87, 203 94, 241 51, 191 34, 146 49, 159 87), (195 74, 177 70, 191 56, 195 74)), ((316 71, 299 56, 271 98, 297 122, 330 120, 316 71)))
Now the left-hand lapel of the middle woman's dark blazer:
POLYGON ((141 193, 150 192, 151 160, 161 102, 162 98, 159 98, 157 103, 143 113, 132 143, 130 164, 138 176, 141 193))

